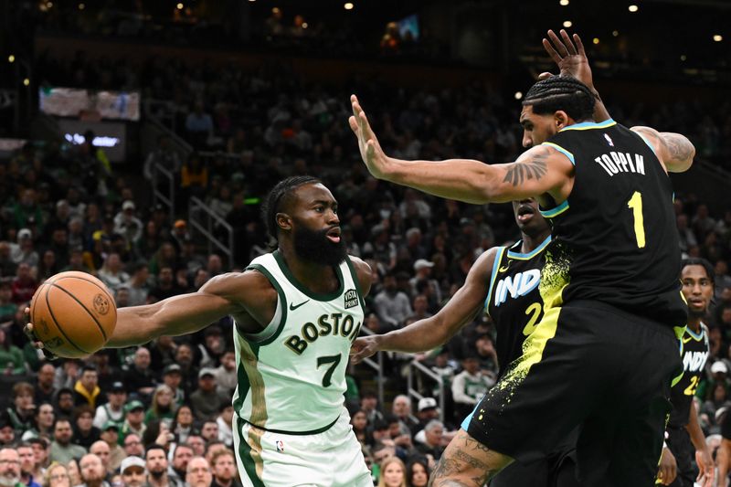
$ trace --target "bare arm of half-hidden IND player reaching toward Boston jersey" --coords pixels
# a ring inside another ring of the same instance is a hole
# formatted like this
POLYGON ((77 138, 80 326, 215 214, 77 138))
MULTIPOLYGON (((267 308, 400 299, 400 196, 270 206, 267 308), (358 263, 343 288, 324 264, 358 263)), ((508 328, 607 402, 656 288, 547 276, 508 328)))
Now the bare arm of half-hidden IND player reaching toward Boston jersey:
POLYGON ((394 352, 426 352, 450 338, 480 312, 490 286, 497 249, 490 249, 472 264, 464 286, 457 291, 437 314, 382 335, 357 338, 350 355, 357 364, 381 350, 394 352))

